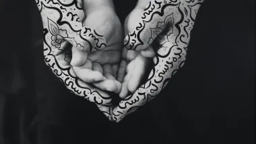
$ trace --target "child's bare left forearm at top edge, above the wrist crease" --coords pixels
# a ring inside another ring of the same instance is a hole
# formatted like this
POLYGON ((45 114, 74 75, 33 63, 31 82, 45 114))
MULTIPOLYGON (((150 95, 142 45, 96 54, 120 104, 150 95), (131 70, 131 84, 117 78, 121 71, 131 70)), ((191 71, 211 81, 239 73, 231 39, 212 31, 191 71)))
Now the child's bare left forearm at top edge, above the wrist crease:
POLYGON ((90 13, 98 9, 115 11, 113 0, 84 0, 85 13, 90 13))

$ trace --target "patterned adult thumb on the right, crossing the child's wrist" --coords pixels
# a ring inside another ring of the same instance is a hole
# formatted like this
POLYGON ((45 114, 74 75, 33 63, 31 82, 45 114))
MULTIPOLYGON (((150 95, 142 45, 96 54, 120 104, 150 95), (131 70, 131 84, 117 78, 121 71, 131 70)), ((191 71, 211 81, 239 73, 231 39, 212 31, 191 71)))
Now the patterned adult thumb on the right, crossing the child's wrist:
POLYGON ((152 44, 156 37, 164 31, 166 26, 172 25, 174 22, 172 14, 168 9, 162 8, 156 9, 156 5, 162 7, 164 3, 156 3, 157 1, 151 1, 152 4, 148 5, 144 11, 137 12, 141 17, 137 26, 133 29, 129 29, 129 34, 125 37, 124 44, 128 50, 143 50, 152 44), (146 14, 145 14, 146 13, 146 14), (148 15, 147 13, 150 13, 148 15), (163 13, 163 15, 153 15, 154 13, 163 13))

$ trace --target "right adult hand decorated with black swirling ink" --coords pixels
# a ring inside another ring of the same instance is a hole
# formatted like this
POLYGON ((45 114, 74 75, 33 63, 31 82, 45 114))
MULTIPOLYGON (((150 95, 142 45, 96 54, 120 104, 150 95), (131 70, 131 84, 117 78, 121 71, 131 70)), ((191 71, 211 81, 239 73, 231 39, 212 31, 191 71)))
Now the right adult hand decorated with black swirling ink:
MULTIPOLYGON (((151 3, 148 4, 148 7, 141 17, 142 22, 138 24, 134 32, 128 34, 125 46, 130 46, 127 49, 137 50, 137 46, 141 46, 144 44, 143 42, 145 42, 141 40, 141 36, 144 34, 141 32, 146 31, 146 22, 155 23, 158 19, 165 20, 168 14, 173 13, 174 22, 171 24, 173 32, 170 32, 168 36, 160 38, 160 40, 162 40, 160 47, 166 47, 168 45, 168 50, 161 52, 161 54, 156 54, 156 57, 154 57, 154 68, 151 70, 146 83, 141 85, 133 95, 121 101, 119 106, 113 110, 114 121, 119 122, 127 114, 130 114, 140 106, 143 106, 143 104, 154 99, 159 92, 166 87, 172 75, 183 67, 191 30, 197 15, 197 10, 202 3, 203 0, 170 0, 167 3, 165 3, 164 0, 157 0, 151 1, 151 3), (160 5, 160 3, 162 4, 161 7, 156 6, 160 5), (137 36, 137 38, 135 38, 135 36, 137 36), (119 114, 117 111, 122 111, 123 114, 119 114)), ((166 24, 166 21, 164 21, 164 23, 166 24)))

